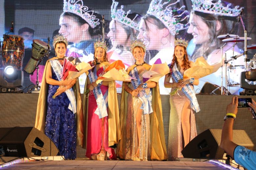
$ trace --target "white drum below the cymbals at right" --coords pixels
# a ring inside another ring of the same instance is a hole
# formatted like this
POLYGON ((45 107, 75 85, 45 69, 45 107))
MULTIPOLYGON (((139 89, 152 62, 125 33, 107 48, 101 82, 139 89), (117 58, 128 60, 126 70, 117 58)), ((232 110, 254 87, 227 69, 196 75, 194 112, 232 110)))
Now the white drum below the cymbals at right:
POLYGON ((228 86, 230 87, 239 87, 240 86, 240 76, 241 72, 245 71, 244 65, 230 65, 228 67, 228 86))

